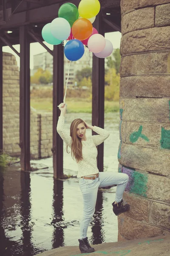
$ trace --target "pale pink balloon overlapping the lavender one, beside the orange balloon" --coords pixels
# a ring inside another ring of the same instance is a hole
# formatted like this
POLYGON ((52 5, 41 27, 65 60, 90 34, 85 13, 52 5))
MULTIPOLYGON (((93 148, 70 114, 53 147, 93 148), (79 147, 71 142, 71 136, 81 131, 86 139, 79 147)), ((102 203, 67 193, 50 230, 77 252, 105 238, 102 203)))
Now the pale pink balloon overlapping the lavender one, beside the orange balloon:
POLYGON ((92 35, 88 39, 88 49, 91 52, 94 52, 94 53, 101 52, 105 48, 105 45, 106 45, 106 40, 104 36, 100 34, 92 35))

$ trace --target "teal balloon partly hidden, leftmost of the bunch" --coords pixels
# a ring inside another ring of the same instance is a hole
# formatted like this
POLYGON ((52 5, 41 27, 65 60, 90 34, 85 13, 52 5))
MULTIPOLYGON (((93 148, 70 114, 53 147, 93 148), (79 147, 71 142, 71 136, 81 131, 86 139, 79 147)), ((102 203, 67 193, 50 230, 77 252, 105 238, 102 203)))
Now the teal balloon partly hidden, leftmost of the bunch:
POLYGON ((55 38, 54 35, 51 34, 51 23, 46 24, 42 28, 42 38, 48 44, 57 45, 57 44, 61 44, 62 43, 61 40, 55 38))

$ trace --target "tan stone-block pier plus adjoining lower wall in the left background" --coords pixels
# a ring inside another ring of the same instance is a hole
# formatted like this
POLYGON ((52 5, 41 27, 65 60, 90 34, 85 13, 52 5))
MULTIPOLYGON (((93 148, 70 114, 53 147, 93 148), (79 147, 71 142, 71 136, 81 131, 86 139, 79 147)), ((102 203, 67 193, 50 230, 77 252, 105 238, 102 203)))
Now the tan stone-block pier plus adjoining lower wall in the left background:
MULTIPOLYGON (((52 155, 52 113, 31 111, 31 159, 52 155)), ((3 52, 3 150, 20 156, 20 74, 14 55, 3 52)))

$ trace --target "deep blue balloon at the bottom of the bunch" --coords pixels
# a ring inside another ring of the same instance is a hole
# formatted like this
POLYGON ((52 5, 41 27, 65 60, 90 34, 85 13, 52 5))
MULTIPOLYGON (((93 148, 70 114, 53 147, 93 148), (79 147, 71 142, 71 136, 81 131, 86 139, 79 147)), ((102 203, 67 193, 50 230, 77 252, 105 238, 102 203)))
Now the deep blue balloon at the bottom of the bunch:
POLYGON ((65 44, 64 53, 65 57, 68 58, 69 61, 78 61, 82 58, 84 52, 84 44, 77 39, 72 39, 65 44))

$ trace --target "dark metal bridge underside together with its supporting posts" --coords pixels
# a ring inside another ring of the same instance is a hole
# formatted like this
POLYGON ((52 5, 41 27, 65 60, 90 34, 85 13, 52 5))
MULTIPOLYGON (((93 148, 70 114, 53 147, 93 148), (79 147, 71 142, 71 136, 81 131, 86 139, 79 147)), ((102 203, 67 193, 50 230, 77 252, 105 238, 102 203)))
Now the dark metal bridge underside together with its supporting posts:
MULTIPOLYGON (((20 148, 21 169, 30 170, 30 44, 39 42, 53 55, 53 166, 54 177, 63 176, 63 143, 56 132, 59 109, 63 100, 64 51, 62 45, 51 51, 43 44, 42 27, 57 17, 61 0, 2 0, 0 5, 0 149, 3 149, 3 54, 9 46, 20 56, 20 148), (11 31, 11 33, 8 33, 11 31), (13 45, 20 44, 20 52, 13 45)), ((80 0, 69 1, 76 6, 80 0)), ((120 0, 100 0, 101 10, 93 23, 102 35, 121 32, 120 0)), ((104 128, 105 61, 93 57, 92 68, 92 123, 104 128)), ((98 168, 103 171, 103 145, 98 147, 98 168)))

